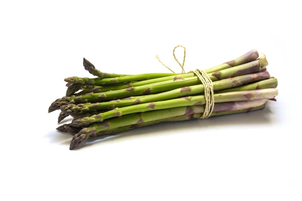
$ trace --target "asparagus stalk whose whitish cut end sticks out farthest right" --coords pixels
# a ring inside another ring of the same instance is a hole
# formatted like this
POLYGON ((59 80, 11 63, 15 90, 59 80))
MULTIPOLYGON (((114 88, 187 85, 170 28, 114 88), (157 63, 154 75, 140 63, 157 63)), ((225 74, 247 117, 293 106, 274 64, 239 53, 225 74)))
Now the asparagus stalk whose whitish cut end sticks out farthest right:
MULTIPOLYGON (((214 94, 215 103, 234 102, 241 100, 256 100, 256 99, 270 99, 274 98, 278 94, 277 89, 259 89, 250 91, 234 91, 226 93, 214 94)), ((140 104, 136 106, 128 106, 124 108, 116 108, 114 110, 93 115, 91 117, 81 118, 73 121, 70 126, 73 127, 85 127, 93 123, 102 122, 106 119, 113 117, 121 117, 133 113, 147 112, 153 110, 164 110, 175 107, 204 105, 205 96, 187 96, 183 98, 176 98, 170 100, 163 100, 159 102, 140 104)))

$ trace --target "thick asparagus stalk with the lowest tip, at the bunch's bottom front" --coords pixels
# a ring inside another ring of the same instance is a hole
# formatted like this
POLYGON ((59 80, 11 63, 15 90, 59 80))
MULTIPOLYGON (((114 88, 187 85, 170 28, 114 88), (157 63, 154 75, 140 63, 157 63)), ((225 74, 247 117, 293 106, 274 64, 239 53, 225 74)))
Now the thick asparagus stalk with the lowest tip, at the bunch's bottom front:
MULTIPOLYGON (((219 103, 219 104, 215 104, 213 112, 214 113, 224 112, 230 110, 236 111, 246 108, 253 108, 253 107, 261 106, 265 104, 265 102, 266 99, 251 100, 249 101, 249 104, 244 103, 243 104, 244 106, 241 105, 241 102, 219 103), (232 107, 230 108, 230 106, 232 107)), ((71 150, 77 147, 79 144, 83 143, 84 140, 87 140, 90 137, 96 137, 97 133, 102 131, 106 131, 106 130, 108 131, 118 127, 136 125, 145 122, 159 121, 159 120, 183 116, 183 115, 191 115, 197 113, 199 114, 199 113, 203 113, 203 111, 204 111, 204 106, 186 106, 186 107, 171 108, 171 109, 165 109, 159 111, 149 111, 145 113, 120 117, 117 119, 111 119, 101 123, 95 123, 87 128, 83 128, 79 133, 75 134, 72 137, 69 149, 71 150)))

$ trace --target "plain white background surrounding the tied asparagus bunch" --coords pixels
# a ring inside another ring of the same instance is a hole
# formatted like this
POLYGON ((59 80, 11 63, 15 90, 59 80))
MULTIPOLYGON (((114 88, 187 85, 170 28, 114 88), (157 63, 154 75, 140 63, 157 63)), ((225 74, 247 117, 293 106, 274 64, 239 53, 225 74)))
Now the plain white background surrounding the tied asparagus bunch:
POLYGON ((298 1, 1 1, 1 200, 302 200, 298 1), (278 78, 263 111, 165 123, 69 151, 63 79, 205 69, 254 48, 278 78), (182 57, 179 49, 177 55, 182 57))

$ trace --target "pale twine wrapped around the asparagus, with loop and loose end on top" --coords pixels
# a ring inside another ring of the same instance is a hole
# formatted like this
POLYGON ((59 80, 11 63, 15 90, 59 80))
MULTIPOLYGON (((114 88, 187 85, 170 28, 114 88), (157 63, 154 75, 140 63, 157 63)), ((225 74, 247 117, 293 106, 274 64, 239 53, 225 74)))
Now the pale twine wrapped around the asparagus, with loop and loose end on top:
MULTIPOLYGON (((175 73, 172 69, 170 69, 167 65, 165 65, 161 60, 159 55, 155 56, 159 62, 161 62, 161 64, 163 64, 166 68, 168 68, 171 72, 175 73)), ((182 45, 178 45, 173 49, 173 57, 174 59, 177 61, 177 63, 179 64, 179 66, 182 69, 182 73, 185 73, 185 69, 184 69, 184 65, 185 65, 185 59, 186 59, 186 48, 182 45), (183 58, 183 63, 181 64, 178 59, 175 56, 175 49, 178 47, 182 47, 184 49, 184 58, 183 58)), ((208 117, 210 117, 210 115, 213 112, 214 109, 214 89, 213 89, 213 82, 210 79, 210 77, 207 75, 207 73, 205 73, 202 70, 196 69, 194 71, 190 71, 193 72, 198 79, 201 81, 201 83, 204 86, 204 96, 205 96, 205 108, 204 108, 204 112, 203 115, 199 118, 199 119, 206 119, 208 117)))

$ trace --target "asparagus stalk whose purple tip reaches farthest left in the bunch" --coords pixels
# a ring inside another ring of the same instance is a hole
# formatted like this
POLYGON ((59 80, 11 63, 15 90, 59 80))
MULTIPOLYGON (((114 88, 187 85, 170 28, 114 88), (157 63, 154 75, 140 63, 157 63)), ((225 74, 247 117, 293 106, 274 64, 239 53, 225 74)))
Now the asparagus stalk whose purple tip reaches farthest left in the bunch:
MULTIPOLYGON (((267 64, 268 63, 266 57, 262 56, 259 59, 246 64, 215 71, 213 73, 208 73, 208 76, 212 81, 218 81, 230 77, 236 77, 236 76, 246 75, 254 72, 265 71, 267 64)), ((194 75, 194 73, 188 73, 188 74, 194 75)), ((146 95, 146 94, 160 93, 160 92, 170 91, 176 88, 183 88, 183 87, 184 88, 182 90, 186 90, 185 87, 187 86, 197 85, 201 83, 197 76, 183 78, 182 75, 179 76, 176 75, 173 76, 173 78, 170 76, 168 77, 170 78, 170 80, 144 84, 140 86, 130 86, 126 89, 108 90, 106 92, 100 92, 100 93, 90 92, 78 96, 65 96, 56 99, 49 107, 48 112, 58 110, 61 106, 67 104, 98 103, 98 102, 104 102, 106 100, 115 100, 128 96, 133 96, 133 95, 146 95)))

